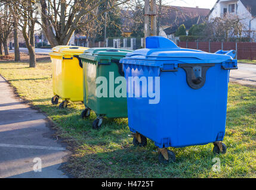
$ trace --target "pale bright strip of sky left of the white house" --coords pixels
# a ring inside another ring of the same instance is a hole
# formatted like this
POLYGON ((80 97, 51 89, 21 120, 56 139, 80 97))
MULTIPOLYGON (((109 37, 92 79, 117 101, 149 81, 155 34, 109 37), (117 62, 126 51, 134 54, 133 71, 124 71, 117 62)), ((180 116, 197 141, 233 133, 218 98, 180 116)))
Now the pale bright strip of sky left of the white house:
POLYGON ((165 3, 173 6, 196 7, 211 9, 217 0, 165 0, 165 3))

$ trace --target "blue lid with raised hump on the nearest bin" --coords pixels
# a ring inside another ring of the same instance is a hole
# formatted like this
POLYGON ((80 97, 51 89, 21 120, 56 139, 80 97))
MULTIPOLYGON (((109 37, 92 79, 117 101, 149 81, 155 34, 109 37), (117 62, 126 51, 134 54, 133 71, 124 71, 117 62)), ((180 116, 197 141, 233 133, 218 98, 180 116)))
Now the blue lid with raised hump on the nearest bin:
POLYGON ((235 50, 207 53, 202 50, 185 49, 165 37, 150 36, 146 38, 146 48, 127 53, 120 63, 148 66, 162 66, 166 61, 178 64, 218 64, 232 61, 235 55, 235 50))

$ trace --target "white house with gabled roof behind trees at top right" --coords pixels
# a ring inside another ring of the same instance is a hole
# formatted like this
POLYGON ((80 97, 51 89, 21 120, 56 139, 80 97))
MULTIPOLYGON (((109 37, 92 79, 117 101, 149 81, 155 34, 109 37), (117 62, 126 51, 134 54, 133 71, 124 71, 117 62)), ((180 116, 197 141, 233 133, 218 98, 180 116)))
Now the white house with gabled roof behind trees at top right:
POLYGON ((256 39, 256 1, 218 0, 208 15, 209 21, 228 14, 237 15, 245 26, 245 36, 256 39))

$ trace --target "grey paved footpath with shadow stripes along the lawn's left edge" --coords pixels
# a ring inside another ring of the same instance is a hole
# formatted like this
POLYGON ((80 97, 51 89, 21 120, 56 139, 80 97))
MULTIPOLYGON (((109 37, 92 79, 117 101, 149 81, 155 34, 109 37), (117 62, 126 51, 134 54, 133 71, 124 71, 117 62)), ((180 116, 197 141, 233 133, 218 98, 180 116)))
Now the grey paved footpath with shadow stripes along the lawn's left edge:
POLYGON ((24 104, 0 75, 0 178, 68 178, 60 170, 69 151, 47 117, 24 104), (41 159, 42 171, 38 169, 41 159))

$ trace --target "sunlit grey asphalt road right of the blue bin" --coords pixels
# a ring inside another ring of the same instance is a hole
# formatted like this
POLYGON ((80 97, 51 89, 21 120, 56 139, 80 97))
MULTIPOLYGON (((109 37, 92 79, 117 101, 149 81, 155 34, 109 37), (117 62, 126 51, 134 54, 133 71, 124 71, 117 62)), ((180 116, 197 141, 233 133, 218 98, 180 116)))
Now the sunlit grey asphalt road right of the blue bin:
POLYGON ((256 85, 256 65, 238 64, 238 70, 230 71, 229 80, 245 85, 256 85))

